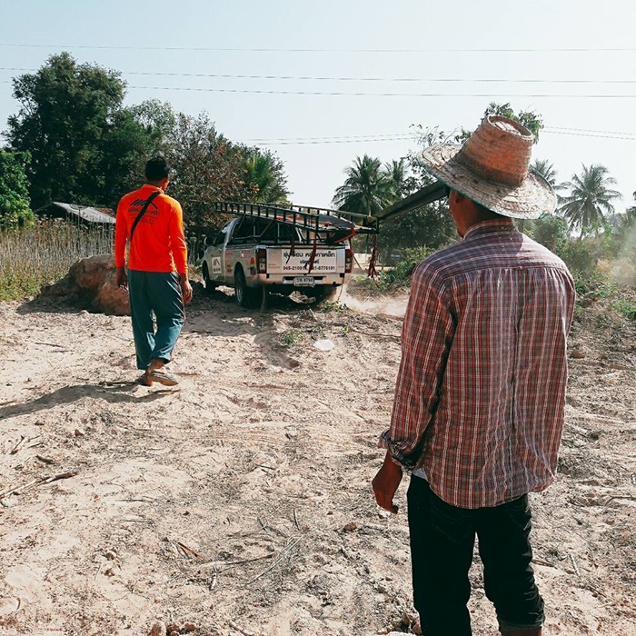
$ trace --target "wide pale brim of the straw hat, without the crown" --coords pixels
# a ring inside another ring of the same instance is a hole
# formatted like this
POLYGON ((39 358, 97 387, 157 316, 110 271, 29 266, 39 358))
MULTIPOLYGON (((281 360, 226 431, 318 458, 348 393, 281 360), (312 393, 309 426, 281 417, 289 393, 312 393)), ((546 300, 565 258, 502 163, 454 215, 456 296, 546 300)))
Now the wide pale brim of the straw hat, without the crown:
POLYGON ((516 219, 538 219, 542 214, 554 213, 557 197, 541 174, 531 169, 517 186, 489 181, 457 161, 461 148, 455 144, 426 148, 423 163, 444 184, 492 212, 516 219))

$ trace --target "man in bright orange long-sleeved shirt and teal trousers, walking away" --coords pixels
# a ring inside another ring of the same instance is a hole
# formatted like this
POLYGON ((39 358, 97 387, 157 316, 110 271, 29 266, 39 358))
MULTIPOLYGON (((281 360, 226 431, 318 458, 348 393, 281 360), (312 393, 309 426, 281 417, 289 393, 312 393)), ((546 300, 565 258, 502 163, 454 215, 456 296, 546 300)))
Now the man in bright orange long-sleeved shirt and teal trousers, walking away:
POLYGON ((173 386, 178 380, 164 366, 184 324, 184 303, 192 300, 184 219, 179 202, 164 192, 169 171, 163 157, 145 164, 145 177, 144 186, 126 194, 117 206, 116 280, 130 294, 137 368, 144 371, 140 382, 173 386))

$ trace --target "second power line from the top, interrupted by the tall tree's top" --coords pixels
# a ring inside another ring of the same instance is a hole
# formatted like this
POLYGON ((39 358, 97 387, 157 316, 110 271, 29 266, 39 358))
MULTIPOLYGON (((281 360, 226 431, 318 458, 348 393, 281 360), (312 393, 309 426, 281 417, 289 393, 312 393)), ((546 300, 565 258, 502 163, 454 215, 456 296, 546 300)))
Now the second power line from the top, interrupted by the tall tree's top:
MULTIPOLYGON (((0 71, 36 72, 37 68, 0 66, 0 71)), ((122 71, 122 75, 161 77, 211 77, 215 79, 293 80, 310 82, 433 82, 442 84, 636 84, 636 80, 593 79, 503 79, 471 77, 338 77, 328 75, 233 75, 217 73, 162 73, 151 71, 122 71)))

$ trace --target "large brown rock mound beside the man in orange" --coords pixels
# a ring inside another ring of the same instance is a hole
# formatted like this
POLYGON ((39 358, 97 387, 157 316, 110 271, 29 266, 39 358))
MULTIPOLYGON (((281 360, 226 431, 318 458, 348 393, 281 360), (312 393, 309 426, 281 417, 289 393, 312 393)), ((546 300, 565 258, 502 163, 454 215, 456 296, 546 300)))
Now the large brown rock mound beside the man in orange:
POLYGON ((112 254, 99 254, 74 263, 65 277, 40 291, 42 296, 64 296, 84 310, 108 315, 130 315, 128 293, 115 283, 112 254))

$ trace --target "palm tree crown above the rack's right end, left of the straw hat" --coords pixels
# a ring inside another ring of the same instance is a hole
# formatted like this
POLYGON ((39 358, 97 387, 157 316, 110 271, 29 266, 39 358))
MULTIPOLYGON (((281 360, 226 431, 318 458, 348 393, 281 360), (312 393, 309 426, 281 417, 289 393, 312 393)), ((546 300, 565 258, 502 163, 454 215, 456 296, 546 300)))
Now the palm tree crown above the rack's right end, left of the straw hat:
POLYGON ((391 182, 383 171, 380 159, 365 154, 356 157, 345 169, 347 178, 333 195, 338 210, 373 216, 393 203, 391 182))

